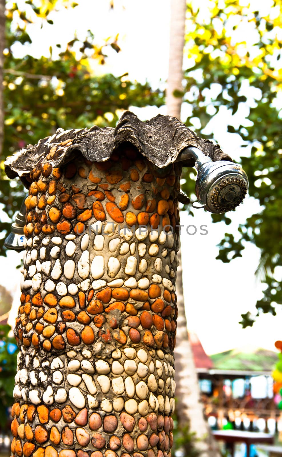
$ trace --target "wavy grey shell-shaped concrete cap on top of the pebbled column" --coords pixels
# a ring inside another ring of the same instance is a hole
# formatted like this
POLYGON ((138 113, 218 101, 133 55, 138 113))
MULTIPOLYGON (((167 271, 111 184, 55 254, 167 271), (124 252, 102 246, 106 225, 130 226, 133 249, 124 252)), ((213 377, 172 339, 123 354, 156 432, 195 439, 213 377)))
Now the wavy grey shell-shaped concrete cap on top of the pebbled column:
MULTIPOLYGON (((9 178, 19 176, 29 187, 30 172, 45 160, 59 167, 73 160, 79 152, 92 162, 108 160, 113 151, 122 143, 131 143, 152 164, 165 168, 174 162, 187 146, 196 146, 213 161, 231 160, 219 145, 197 137, 176 117, 153 117, 142 122, 130 111, 123 113, 116 128, 93 126, 85 129, 63 130, 39 140, 36 145, 28 145, 5 161, 5 173, 9 178)), ((184 166, 193 166, 194 159, 183 161, 184 166)))

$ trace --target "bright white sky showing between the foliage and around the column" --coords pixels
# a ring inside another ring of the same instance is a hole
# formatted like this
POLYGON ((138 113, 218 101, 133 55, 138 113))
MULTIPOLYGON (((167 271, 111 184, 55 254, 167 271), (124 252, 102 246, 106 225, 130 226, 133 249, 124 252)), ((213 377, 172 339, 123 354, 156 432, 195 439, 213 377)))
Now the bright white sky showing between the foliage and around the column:
MULTIPOLYGON (((48 55, 50 31, 53 43, 67 43, 77 29, 78 36, 91 29, 97 40, 119 33, 119 45, 122 52, 109 52, 106 65, 96 71, 114 74, 129 73, 131 79, 149 80, 156 87, 164 84, 168 73, 168 45, 170 5, 168 0, 116 1, 113 11, 109 11, 108 2, 80 0, 80 6, 73 11, 63 11, 60 27, 48 26, 41 30, 40 46, 34 54, 48 55), (123 6, 122 6, 123 5, 123 6)), ((33 27, 33 26, 32 26, 33 27)), ((34 37, 37 35, 34 27, 34 37)), ((38 42, 38 40, 37 40, 38 42)), ((18 49, 20 53, 21 50, 18 49)), ((165 108, 133 108, 141 119, 165 114, 165 108)), ((237 113, 237 120, 242 113, 237 113)), ((183 120, 187 117, 186 107, 182 110, 183 120)), ((234 122, 234 118, 233 118, 234 122)), ((226 133, 230 123, 225 110, 222 110, 220 122, 213 123, 215 138, 223 150, 235 160, 245 154, 240 148, 237 135, 226 133)), ((259 260, 259 250, 248 245, 243 251, 243 258, 223 264, 215 260, 218 253, 216 244, 226 231, 236 235, 239 223, 254 211, 255 202, 248 198, 233 214, 233 223, 212 224, 209 213, 198 210, 195 218, 188 218, 181 213, 181 224, 193 224, 197 228, 195 235, 182 232, 181 249, 183 262, 183 283, 188 329, 199 336, 208 354, 225 351, 240 346, 256 346, 275 350, 274 342, 281 339, 282 312, 277 317, 262 315, 253 328, 242 329, 238 323, 240 315, 247 311, 255 312, 256 300, 261 298, 261 284, 255 279, 255 269, 259 260), (200 226, 207 225, 208 234, 200 235, 200 226), (231 228, 232 227, 232 228, 231 228)), ((190 228, 192 232, 193 228, 190 228)), ((12 292, 19 282, 19 273, 14 274, 19 263, 18 254, 11 252, 7 259, 0 258, 1 283, 12 292)), ((18 293, 18 292, 17 292, 18 293)))

